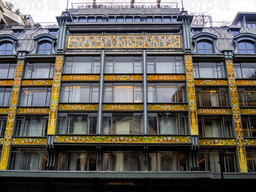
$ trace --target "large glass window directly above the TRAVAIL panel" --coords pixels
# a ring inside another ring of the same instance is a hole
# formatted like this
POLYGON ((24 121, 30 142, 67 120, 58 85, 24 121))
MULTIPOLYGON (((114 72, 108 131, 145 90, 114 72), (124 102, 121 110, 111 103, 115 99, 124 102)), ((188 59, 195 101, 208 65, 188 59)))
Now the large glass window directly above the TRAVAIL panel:
POLYGON ((64 74, 100 73, 100 56, 69 56, 65 58, 64 74))

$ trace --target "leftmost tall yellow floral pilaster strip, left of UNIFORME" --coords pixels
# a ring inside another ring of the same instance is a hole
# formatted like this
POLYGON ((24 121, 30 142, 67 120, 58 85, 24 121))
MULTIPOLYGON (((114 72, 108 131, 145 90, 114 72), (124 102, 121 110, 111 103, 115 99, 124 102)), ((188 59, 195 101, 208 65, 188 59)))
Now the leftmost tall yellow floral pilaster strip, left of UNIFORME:
POLYGON ((0 162, 0 170, 7 169, 7 163, 8 163, 9 152, 10 152, 11 141, 12 141, 12 130, 13 130, 14 121, 15 121, 23 65, 24 65, 24 61, 21 61, 21 60, 17 61, 17 68, 16 68, 15 79, 13 83, 13 89, 12 89, 12 98, 11 98, 11 103, 10 103, 10 108, 8 113, 8 120, 6 124, 6 132, 3 139, 3 149, 2 149, 2 157, 0 162))

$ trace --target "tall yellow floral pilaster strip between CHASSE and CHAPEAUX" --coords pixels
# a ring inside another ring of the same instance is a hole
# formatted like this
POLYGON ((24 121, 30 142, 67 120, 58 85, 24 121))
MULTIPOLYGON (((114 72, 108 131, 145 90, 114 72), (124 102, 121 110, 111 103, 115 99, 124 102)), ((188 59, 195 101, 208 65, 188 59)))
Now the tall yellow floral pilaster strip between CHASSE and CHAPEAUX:
POLYGON ((189 102, 189 121, 191 135, 198 135, 197 109, 195 105, 195 82, 193 76, 192 55, 185 55, 186 81, 189 102))

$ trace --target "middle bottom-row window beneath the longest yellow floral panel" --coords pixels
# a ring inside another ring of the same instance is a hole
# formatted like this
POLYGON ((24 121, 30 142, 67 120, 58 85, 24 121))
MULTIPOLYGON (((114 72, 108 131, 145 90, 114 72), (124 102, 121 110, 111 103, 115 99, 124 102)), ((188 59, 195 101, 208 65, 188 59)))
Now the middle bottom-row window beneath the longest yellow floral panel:
POLYGON ((142 152, 112 151, 102 154, 102 171, 141 171, 142 152))

